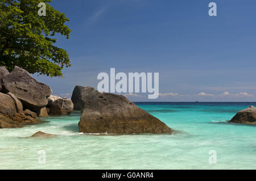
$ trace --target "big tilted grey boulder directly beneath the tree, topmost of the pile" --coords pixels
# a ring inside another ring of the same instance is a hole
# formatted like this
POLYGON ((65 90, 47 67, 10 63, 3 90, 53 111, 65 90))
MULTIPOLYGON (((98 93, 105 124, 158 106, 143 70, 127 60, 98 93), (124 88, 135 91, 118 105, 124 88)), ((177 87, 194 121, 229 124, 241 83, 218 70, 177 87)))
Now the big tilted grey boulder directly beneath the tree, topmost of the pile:
POLYGON ((28 71, 15 66, 14 70, 2 79, 2 89, 11 92, 30 110, 37 111, 47 106, 47 98, 52 94, 51 88, 38 82, 28 71))

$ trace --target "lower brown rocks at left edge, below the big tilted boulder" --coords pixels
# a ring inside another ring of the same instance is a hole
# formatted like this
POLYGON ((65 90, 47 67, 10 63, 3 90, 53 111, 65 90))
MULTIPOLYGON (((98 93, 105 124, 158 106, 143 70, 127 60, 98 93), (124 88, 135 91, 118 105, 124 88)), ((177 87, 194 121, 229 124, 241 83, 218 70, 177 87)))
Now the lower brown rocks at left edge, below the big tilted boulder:
POLYGON ((19 104, 14 95, 0 92, 0 128, 20 128, 22 125, 40 123, 35 112, 22 111, 17 106, 19 104))

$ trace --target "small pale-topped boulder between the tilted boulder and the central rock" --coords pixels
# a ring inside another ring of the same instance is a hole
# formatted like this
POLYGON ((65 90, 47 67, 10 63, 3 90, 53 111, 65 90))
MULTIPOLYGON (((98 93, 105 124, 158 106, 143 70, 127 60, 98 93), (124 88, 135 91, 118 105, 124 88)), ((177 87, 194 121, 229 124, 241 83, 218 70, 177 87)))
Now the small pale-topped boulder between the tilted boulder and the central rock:
POLYGON ((50 115, 69 115, 73 112, 73 103, 71 99, 61 98, 59 96, 51 95, 48 98, 49 114, 50 115))

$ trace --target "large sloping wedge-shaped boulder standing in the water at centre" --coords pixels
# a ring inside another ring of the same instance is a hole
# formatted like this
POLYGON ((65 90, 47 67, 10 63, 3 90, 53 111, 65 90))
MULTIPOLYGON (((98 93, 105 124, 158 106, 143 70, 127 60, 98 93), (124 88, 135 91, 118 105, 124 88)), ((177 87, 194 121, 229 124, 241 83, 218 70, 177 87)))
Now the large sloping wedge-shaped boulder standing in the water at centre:
POLYGON ((80 132, 109 134, 172 133, 156 117, 143 111, 125 96, 98 92, 93 87, 82 90, 83 108, 80 132))

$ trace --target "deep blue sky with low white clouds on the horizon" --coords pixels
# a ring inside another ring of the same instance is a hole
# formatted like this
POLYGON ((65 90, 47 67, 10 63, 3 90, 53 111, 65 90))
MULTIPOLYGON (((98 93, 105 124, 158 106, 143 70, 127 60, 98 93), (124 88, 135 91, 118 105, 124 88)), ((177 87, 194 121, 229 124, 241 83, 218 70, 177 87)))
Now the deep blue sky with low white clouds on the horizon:
POLYGON ((76 85, 97 88, 97 75, 159 73, 159 98, 132 101, 256 101, 255 0, 53 0, 70 19, 70 39, 57 36, 72 67, 63 78, 33 75, 54 95, 76 85), (209 16, 210 2, 217 16, 209 16))

